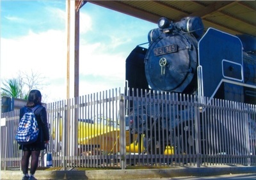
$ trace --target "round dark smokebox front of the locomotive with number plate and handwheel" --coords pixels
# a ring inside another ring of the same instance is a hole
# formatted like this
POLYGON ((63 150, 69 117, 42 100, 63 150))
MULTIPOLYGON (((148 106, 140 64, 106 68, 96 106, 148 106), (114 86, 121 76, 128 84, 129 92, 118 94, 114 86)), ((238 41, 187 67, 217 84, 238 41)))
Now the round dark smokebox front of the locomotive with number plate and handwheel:
POLYGON ((197 43, 188 34, 157 38, 145 57, 145 74, 152 89, 182 93, 195 76, 197 43))

